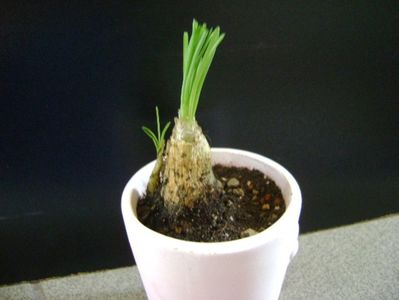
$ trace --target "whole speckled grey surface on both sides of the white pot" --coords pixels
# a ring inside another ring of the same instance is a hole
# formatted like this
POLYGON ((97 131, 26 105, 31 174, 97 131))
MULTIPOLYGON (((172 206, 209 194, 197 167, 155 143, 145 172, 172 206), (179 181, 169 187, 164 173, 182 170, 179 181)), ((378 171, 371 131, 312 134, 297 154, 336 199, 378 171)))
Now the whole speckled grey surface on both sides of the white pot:
MULTIPOLYGON (((301 235, 280 300, 398 299, 398 253, 399 214, 301 235)), ((134 266, 0 287, 0 299, 147 298, 134 266)))

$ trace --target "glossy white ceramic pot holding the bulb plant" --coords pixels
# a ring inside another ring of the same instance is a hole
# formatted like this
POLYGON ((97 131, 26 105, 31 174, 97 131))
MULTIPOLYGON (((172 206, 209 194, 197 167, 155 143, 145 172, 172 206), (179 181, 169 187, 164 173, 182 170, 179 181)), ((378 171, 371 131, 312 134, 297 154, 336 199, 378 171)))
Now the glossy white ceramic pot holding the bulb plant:
POLYGON ((154 162, 130 179, 122 195, 129 242, 150 300, 278 299, 289 262, 298 250, 301 192, 276 162, 251 152, 213 148, 214 163, 255 168, 281 188, 286 211, 272 226, 240 240, 201 243, 159 234, 139 222, 138 198, 154 162))

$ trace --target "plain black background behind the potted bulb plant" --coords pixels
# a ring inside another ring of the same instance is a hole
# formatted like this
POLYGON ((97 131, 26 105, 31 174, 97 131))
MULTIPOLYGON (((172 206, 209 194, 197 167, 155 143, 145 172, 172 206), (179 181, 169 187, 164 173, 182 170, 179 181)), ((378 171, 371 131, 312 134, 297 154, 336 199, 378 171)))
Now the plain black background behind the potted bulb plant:
POLYGON ((2 1, 0 284, 133 263, 120 195, 193 17, 227 33, 200 124, 294 174, 302 232, 399 211, 397 2, 206 2, 2 1))

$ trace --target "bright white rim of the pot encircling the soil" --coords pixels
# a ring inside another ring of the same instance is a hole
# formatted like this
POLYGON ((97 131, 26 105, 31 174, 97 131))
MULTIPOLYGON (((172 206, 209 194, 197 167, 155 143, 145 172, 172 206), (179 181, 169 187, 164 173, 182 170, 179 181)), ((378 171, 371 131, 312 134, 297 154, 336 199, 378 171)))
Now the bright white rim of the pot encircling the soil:
POLYGON ((121 205, 124 221, 126 225, 130 224, 137 230, 133 233, 133 238, 135 234, 146 235, 146 238, 156 241, 158 245, 162 245, 161 247, 171 248, 181 252, 192 252, 203 255, 232 254, 257 248, 275 239, 290 239, 291 234, 289 236, 286 234, 289 232, 287 226, 298 226, 298 219, 302 205, 302 197, 299 185, 291 173, 277 162, 265 156, 246 150, 232 148, 212 148, 211 151, 212 153, 229 153, 237 156, 246 156, 260 163, 267 164, 269 167, 278 171, 278 173, 285 178, 291 189, 290 201, 288 204, 287 199, 285 199, 286 210, 283 215, 274 224, 262 232, 250 237, 232 241, 193 242, 172 238, 158 233, 146 227, 138 220, 136 215, 137 201, 135 202, 134 207, 132 205, 132 197, 141 196, 142 191, 140 191, 140 188, 142 189, 142 185, 146 185, 148 181, 148 178, 146 178, 145 182, 143 182, 143 179, 139 179, 139 176, 142 176, 143 173, 148 169, 152 170, 152 167, 155 164, 155 161, 152 161, 143 166, 131 177, 122 193, 121 205))

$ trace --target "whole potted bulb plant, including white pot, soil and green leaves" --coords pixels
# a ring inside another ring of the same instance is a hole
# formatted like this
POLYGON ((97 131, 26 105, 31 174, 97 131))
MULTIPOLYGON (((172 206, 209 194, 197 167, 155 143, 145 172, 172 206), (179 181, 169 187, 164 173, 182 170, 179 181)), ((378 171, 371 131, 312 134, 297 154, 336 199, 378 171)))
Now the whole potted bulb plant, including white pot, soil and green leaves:
POLYGON ((169 123, 161 131, 156 109, 157 133, 143 129, 154 141, 157 159, 137 171, 122 194, 127 235, 149 299, 277 299, 298 249, 301 193, 293 176, 255 153, 211 149, 195 120, 223 37, 219 27, 208 29, 195 20, 191 36, 184 33, 181 103, 173 132, 166 143, 169 123), (226 169, 235 175, 220 175, 226 169), (240 172, 255 172, 264 186, 240 172), (257 207, 250 221, 267 223, 237 225, 234 236, 238 219, 245 219, 240 214, 244 202, 257 207))

